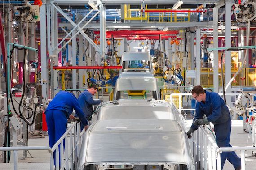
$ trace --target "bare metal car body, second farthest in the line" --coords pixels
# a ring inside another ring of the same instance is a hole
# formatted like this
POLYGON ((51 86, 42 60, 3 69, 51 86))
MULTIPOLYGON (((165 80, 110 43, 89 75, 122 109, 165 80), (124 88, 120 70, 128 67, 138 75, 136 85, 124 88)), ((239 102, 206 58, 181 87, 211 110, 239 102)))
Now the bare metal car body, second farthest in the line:
POLYGON ((157 79, 154 77, 119 77, 115 83, 114 100, 127 99, 127 91, 146 91, 146 98, 160 99, 157 79))

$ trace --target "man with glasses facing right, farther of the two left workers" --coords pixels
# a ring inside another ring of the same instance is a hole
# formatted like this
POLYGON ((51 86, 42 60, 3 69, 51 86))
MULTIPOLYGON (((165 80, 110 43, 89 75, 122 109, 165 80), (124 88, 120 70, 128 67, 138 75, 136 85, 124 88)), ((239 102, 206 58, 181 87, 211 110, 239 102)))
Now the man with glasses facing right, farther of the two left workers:
POLYGON ((88 89, 84 90, 83 93, 80 94, 78 100, 81 108, 83 109, 84 113, 86 114, 86 119, 88 120, 91 115, 93 114, 93 107, 92 105, 98 105, 103 100, 94 100, 93 95, 97 93, 96 85, 90 85, 88 89))

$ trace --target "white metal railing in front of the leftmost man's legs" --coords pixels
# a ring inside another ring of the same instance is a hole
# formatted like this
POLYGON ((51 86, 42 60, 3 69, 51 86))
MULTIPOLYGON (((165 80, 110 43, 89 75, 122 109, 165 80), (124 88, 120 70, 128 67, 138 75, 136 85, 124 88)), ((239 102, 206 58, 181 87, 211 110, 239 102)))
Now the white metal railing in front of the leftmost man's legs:
POLYGON ((79 157, 81 134, 80 123, 77 123, 77 121, 75 121, 74 123, 72 123, 71 127, 69 127, 67 131, 63 134, 63 136, 56 142, 56 144, 53 145, 52 148, 48 146, 0 147, 0 151, 13 151, 14 170, 18 170, 18 151, 20 150, 47 150, 51 154, 50 170, 54 170, 53 154, 54 152, 56 152, 55 170, 63 170, 64 167, 66 170, 75 170, 79 157), (65 149, 63 146, 63 140, 65 141, 65 149))

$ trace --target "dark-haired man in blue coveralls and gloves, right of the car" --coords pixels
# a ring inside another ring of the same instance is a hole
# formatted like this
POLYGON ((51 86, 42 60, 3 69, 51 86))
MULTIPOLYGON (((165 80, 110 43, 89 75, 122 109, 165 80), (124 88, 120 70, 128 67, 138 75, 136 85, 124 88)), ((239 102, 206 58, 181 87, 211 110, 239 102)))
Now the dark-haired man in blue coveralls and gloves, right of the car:
MULTIPOLYGON (((217 145, 219 147, 232 147, 230 145, 231 117, 228 107, 218 93, 204 91, 198 85, 192 89, 192 97, 197 100, 195 116, 190 130, 187 132, 189 138, 191 133, 198 129, 198 125, 214 124, 217 145), (206 115, 205 118, 204 115, 206 115)), ((235 170, 241 170, 241 159, 233 152, 221 153, 221 169, 226 159, 233 164, 235 170)))

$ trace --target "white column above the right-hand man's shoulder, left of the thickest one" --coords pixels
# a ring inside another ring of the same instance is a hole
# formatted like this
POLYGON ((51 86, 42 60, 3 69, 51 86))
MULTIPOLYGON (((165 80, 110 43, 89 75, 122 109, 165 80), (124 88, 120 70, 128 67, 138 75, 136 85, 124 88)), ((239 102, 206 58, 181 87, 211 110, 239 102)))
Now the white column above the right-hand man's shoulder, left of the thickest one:
MULTIPOLYGON (((213 8, 213 47, 219 47, 218 39, 218 19, 219 8, 213 8)), ((219 93, 219 54, 218 51, 213 51, 213 88, 214 92, 219 93)))

